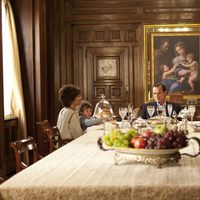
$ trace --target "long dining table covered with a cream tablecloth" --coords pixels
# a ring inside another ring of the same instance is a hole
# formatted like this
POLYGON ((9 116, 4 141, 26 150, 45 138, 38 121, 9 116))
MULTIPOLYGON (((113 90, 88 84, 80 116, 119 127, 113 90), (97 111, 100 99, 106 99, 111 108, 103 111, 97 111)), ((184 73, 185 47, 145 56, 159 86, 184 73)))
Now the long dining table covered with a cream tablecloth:
MULTIPOLYGON (((110 130, 106 131, 107 132, 110 130)), ((93 126, 0 185, 2 200, 200 200, 200 156, 181 156, 161 168, 132 160, 114 162, 102 151, 104 134, 93 126)), ((200 138, 190 129, 187 137, 200 138)), ((180 150, 195 154, 195 141, 180 150)))

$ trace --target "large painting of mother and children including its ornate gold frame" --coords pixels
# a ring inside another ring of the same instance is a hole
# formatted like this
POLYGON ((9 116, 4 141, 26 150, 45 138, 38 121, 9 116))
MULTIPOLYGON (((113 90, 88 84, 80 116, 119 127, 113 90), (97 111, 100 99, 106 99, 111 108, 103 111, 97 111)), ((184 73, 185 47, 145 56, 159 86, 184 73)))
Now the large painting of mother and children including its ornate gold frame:
POLYGON ((157 83, 169 95, 181 91, 184 99, 199 99, 200 24, 146 25, 144 34, 145 100, 157 83))

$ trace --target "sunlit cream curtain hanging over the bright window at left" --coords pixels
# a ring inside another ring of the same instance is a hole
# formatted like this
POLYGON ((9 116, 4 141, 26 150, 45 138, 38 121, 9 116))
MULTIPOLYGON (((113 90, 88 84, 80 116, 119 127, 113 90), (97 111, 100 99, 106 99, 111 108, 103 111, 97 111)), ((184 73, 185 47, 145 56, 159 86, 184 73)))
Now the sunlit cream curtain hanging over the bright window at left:
POLYGON ((8 108, 5 108, 5 114, 18 117, 19 133, 22 137, 25 137, 27 136, 27 127, 19 50, 10 0, 3 0, 2 20, 4 94, 5 98, 7 98, 4 98, 4 102, 8 102, 8 108))

